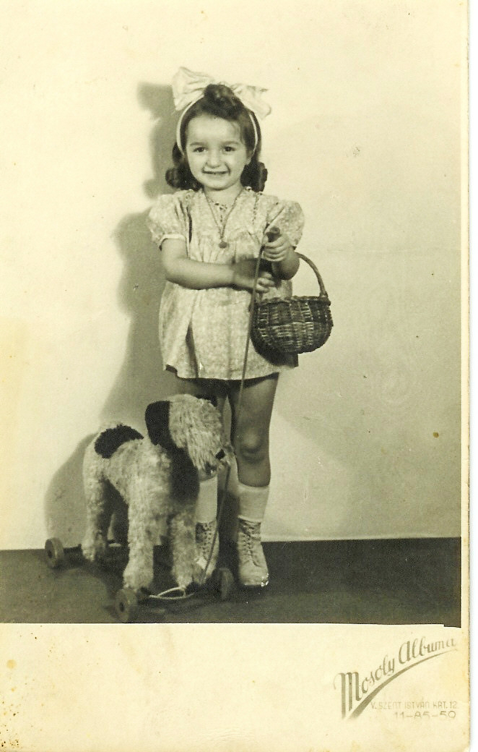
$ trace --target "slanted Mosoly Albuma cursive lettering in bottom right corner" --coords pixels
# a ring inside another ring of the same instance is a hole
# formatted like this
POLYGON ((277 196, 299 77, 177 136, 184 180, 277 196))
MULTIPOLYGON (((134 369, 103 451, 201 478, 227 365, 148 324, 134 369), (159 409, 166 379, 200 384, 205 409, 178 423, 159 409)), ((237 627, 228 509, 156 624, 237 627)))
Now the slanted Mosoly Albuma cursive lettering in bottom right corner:
POLYGON ((396 653, 386 654, 373 669, 360 675, 358 671, 339 672, 334 689, 340 690, 343 718, 357 718, 383 687, 409 669, 431 658, 456 650, 455 638, 428 642, 425 637, 402 642, 396 653))

